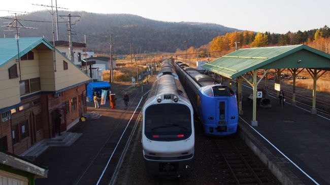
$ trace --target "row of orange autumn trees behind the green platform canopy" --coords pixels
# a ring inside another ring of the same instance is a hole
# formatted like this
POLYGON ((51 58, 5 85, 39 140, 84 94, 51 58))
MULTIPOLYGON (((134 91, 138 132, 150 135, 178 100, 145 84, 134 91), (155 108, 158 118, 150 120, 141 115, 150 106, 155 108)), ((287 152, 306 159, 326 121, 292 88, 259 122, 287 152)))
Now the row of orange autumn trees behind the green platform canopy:
MULTIPOLYGON (((330 28, 323 26, 319 29, 307 31, 288 31, 284 34, 270 32, 254 31, 235 31, 224 35, 218 35, 213 40, 198 49, 189 47, 187 49, 187 58, 190 59, 198 51, 199 57, 205 57, 210 52, 212 56, 220 57, 235 50, 235 42, 238 42, 238 48, 253 48, 267 46, 285 46, 305 44, 320 51, 330 54, 330 28)), ((185 51, 176 50, 176 55, 185 55, 185 51)))

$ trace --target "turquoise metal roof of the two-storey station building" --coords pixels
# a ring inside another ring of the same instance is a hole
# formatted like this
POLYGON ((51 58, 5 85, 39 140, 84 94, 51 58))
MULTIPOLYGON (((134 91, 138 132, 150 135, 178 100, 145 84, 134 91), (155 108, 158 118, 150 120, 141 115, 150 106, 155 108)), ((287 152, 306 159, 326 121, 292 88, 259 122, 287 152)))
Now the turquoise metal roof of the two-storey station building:
MULTIPOLYGON (((51 50, 53 46, 42 37, 20 38, 19 56, 25 55, 39 44, 45 44, 51 50)), ((15 38, 0 38, 0 67, 17 57, 17 41, 15 38)))

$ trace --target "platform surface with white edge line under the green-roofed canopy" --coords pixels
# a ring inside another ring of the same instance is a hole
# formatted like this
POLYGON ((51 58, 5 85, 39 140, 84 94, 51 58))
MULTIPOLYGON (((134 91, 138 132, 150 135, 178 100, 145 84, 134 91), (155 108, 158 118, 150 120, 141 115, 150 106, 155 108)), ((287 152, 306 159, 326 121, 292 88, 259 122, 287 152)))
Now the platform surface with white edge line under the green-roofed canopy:
MULTIPOLYGON (((244 99, 250 91, 245 89, 244 99)), ((267 159, 263 160, 270 168, 272 165, 280 166, 277 170, 291 175, 293 184, 330 184, 330 116, 312 115, 309 109, 292 106, 289 102, 282 108, 278 99, 270 99, 271 108, 260 107, 257 110, 257 127, 249 124, 252 120, 252 103, 244 101, 244 115, 240 116, 239 130, 248 132, 259 141, 262 147, 256 153, 259 153, 260 158, 265 158, 270 152, 267 159)), ((284 177, 279 175, 278 178, 284 177)))

